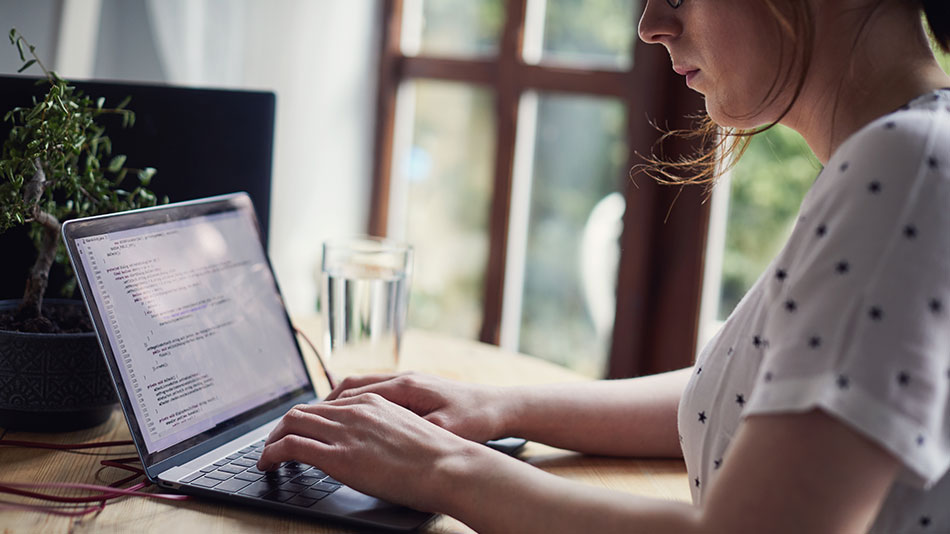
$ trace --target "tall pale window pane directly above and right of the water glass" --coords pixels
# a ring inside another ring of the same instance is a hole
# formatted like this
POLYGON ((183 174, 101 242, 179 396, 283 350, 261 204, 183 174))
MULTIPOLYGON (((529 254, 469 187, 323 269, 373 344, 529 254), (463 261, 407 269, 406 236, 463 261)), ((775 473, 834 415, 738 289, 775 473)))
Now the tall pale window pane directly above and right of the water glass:
POLYGON ((406 239, 415 247, 409 325, 477 338, 488 259, 494 102, 462 84, 418 81, 407 179, 406 239))

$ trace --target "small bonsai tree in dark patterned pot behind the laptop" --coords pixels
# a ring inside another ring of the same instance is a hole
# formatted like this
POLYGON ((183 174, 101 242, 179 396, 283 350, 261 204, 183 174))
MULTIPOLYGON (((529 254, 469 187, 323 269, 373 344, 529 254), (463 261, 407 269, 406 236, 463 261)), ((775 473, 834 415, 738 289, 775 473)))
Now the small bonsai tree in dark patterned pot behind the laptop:
POLYGON ((108 417, 115 399, 81 302, 47 299, 44 305, 54 263, 70 272, 64 292, 76 285, 60 229, 67 219, 155 205, 147 186, 156 171, 126 167, 125 156, 111 154, 97 122, 117 114, 123 126, 132 126, 128 98, 106 107, 103 98, 83 94, 48 70, 16 29, 9 38, 23 62, 18 72, 39 67, 37 84, 47 92, 3 117, 12 129, 0 152, 0 232, 28 225, 36 257, 22 299, 0 303, 0 426, 90 426, 108 417), (129 175, 137 183, 123 189, 129 175))

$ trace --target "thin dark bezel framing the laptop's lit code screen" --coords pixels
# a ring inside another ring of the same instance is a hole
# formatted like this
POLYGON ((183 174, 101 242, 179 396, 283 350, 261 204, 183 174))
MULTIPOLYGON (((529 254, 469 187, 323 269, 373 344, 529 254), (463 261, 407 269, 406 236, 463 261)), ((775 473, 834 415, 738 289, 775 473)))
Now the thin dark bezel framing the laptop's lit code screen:
MULTIPOLYGON (((253 222, 254 228, 257 231, 257 234, 254 237, 256 237, 258 243, 261 243, 260 246, 263 249, 260 225, 258 224, 257 217, 254 214, 250 197, 244 192, 220 195, 188 202, 166 204, 120 213, 98 215, 83 219, 73 219, 63 223, 63 241, 66 245, 66 250, 73 269, 76 273, 76 279, 78 281, 83 300, 86 303, 89 317, 92 320, 93 327, 96 331, 96 337, 99 341, 99 346, 102 349, 103 357, 105 358, 106 365, 109 368, 109 375, 112 379, 113 385, 115 386, 117 396, 119 397, 119 404, 122 407, 125 419, 128 422, 129 431, 132 435, 132 440, 135 443, 136 450, 141 457, 142 465, 145 467, 145 471, 149 479, 153 481, 157 478, 159 473, 176 465, 181 465, 182 463, 188 462, 193 458, 197 458, 198 456, 201 456, 217 447, 220 447, 221 445, 224 445, 225 443, 228 443, 229 441, 237 439, 241 435, 246 434, 257 427, 260 427, 268 421, 272 421, 280 417, 294 405, 313 401, 317 398, 316 390, 309 372, 306 372, 306 361, 303 357, 299 340, 297 339, 297 336, 294 335, 293 323, 290 320, 290 316, 287 314, 287 308, 286 306, 282 306, 287 328, 291 333, 291 337, 294 341, 294 347, 297 350, 297 357, 300 358, 301 364, 305 369, 305 374, 307 375, 306 383, 294 391, 291 391, 277 399, 273 399, 250 410, 246 410, 241 414, 238 414, 205 432, 201 432, 165 449, 161 449, 152 453, 148 452, 148 449, 145 446, 145 440, 142 435, 142 431, 132 409, 133 400, 128 395, 128 391, 126 390, 126 386, 122 380, 122 375, 119 370, 119 362, 116 358, 115 352, 112 350, 111 344, 109 343, 107 326, 103 322, 102 314, 100 313, 96 299, 93 297, 93 288, 90 285, 88 273, 86 272, 82 261, 79 261, 79 248, 77 245, 77 240, 96 235, 103 235, 109 232, 143 228, 227 211, 239 211, 243 214, 243 216, 250 217, 250 220, 253 222)), ((284 299, 280 292, 279 284, 277 283, 276 277, 273 275, 273 266, 270 263, 270 259, 267 257, 266 251, 263 252, 265 261, 267 262, 267 266, 270 269, 274 280, 274 290, 277 293, 278 299, 283 304, 284 299)))

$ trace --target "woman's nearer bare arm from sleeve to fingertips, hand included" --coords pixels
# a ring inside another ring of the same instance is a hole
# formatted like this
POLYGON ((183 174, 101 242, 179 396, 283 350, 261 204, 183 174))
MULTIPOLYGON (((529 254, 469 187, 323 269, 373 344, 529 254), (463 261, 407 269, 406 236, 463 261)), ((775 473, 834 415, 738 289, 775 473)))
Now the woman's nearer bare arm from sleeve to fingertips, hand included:
POLYGON ((704 506, 611 492, 464 440, 375 394, 302 405, 262 469, 319 465, 351 487, 447 513, 478 532, 866 532, 899 463, 820 411, 740 425, 704 506))

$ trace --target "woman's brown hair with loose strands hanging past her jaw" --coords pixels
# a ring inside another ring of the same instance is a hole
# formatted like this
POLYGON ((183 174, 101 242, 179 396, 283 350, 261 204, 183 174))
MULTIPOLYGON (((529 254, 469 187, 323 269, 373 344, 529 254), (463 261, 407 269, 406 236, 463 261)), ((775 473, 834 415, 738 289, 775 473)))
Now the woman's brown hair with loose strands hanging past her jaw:
MULTIPOLYGON (((636 166, 631 174, 643 172, 657 182, 668 185, 704 185, 708 191, 718 178, 742 157, 753 136, 772 129, 788 115, 805 86, 805 78, 811 65, 815 46, 815 15, 809 2, 802 0, 763 1, 774 17, 777 29, 785 38, 781 40, 779 47, 775 77, 762 101, 748 116, 754 116, 774 104, 782 95, 783 88, 788 87, 794 80, 791 98, 782 108, 778 118, 758 128, 736 129, 721 127, 708 114, 701 113, 693 117, 696 120, 693 129, 665 131, 655 145, 661 147, 663 142, 671 137, 685 138, 696 141, 695 145, 699 148, 694 153, 667 160, 662 153, 658 155, 654 152, 649 156, 642 156, 646 163, 636 166)), ((868 10, 859 29, 859 37, 871 15, 885 1, 878 0, 868 10)), ((934 41, 944 51, 950 52, 950 0, 903 1, 918 5, 927 18, 934 41)), ((857 40, 854 46, 857 46, 857 40)))

